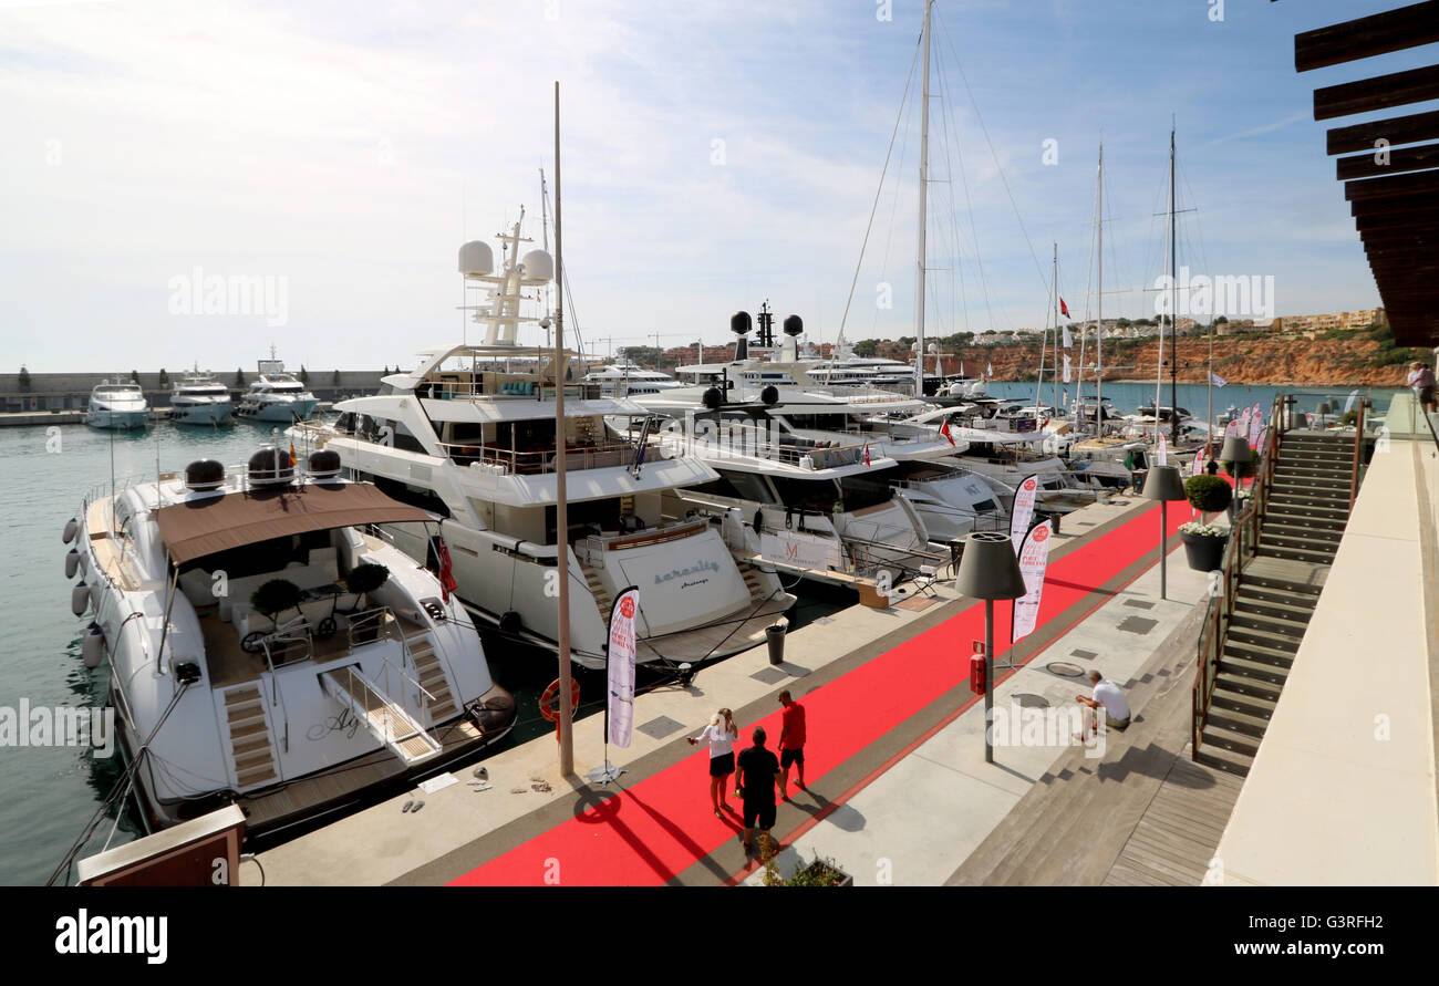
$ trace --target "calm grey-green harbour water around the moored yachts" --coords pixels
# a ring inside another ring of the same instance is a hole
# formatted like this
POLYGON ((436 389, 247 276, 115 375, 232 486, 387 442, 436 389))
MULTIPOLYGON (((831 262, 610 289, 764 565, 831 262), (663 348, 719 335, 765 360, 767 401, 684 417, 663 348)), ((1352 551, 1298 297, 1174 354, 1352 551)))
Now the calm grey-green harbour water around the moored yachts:
MULTIPOLYGON (((272 426, 236 422, 219 430, 153 423, 144 432, 99 432, 85 425, 0 428, 0 515, 6 518, 6 554, 16 561, 0 576, 0 707, 83 708, 102 705, 108 664, 85 668, 79 636, 89 616, 71 615, 62 543, 65 521, 79 512, 86 491, 105 485, 114 456, 115 476, 144 481, 178 471, 200 458, 240 463, 276 439, 272 426)), ((822 618, 849 600, 843 593, 806 590, 790 612, 791 625, 822 618)), ((554 658, 485 638, 485 656, 496 682, 514 692, 519 721, 491 748, 504 750, 553 727, 538 715, 538 697, 555 677, 554 658)), ((580 714, 602 708, 599 672, 580 671, 580 714)), ((699 682, 704 675, 701 672, 699 682)), ((640 682, 643 684, 643 681, 640 682)), ((43 884, 114 789, 122 772, 118 753, 96 759, 79 747, 0 747, 0 885, 43 884)), ((140 835, 138 820, 114 813, 96 829, 85 852, 106 839, 121 845, 140 835)))

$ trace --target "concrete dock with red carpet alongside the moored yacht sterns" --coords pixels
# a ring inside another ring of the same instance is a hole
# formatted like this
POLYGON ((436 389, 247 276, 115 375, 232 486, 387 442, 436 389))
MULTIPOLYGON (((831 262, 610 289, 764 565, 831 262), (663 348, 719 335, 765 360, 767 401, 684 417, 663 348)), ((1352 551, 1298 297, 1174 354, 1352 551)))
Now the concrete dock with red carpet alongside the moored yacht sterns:
MULTIPOLYGON (((1171 510, 1170 531, 1183 520, 1187 508, 1171 510)), ((1128 748, 1112 731, 1085 748, 1068 730, 1058 738, 1053 728, 1049 737, 1040 731, 1036 743, 1022 728, 1026 715, 1068 725, 1075 695, 1089 692, 1082 678, 1089 668, 1132 697, 1131 733, 1143 731, 1147 705, 1174 688, 1184 692, 1187 723, 1191 630, 1209 580, 1189 570, 1171 537, 1168 600, 1160 600, 1158 541, 1157 504, 1135 497, 1063 518, 1039 628, 1012 652, 1023 666, 997 675, 996 710, 1013 715, 1014 725, 996 730, 991 764, 984 763, 983 704, 967 685, 968 641, 981 636, 974 626, 983 605, 941 582, 932 596, 909 593, 888 609, 853 606, 816 620, 789 636, 780 666, 755 648, 704 669, 688 688, 639 697, 632 746, 609 747, 609 761, 626 772, 609 786, 583 779, 604 763, 596 717, 576 728, 577 779, 560 777, 555 743, 541 737, 482 761, 489 790, 476 790, 463 769, 459 783, 433 795, 401 795, 260 854, 265 882, 755 882, 760 865, 740 846, 738 818, 714 818, 707 754, 685 740, 727 705, 745 737, 740 747, 764 720, 774 721, 773 748, 781 688, 809 710, 810 740, 809 787, 791 780, 791 800, 778 809, 780 871, 823 855, 861 885, 966 882, 967 861, 994 856, 989 841, 1007 818, 1029 810, 1035 792, 1053 796, 1073 784, 1079 793, 1089 783, 1108 793, 1150 780, 1111 770, 1128 748), (419 812, 401 810, 422 800, 419 812)), ((996 605, 996 618, 1007 639, 1007 603, 996 605)), ((1094 800, 1095 792, 1085 796, 1094 800)), ((730 800, 738 806, 732 793, 730 800)), ((1227 808, 1215 812, 1227 815, 1227 808)), ((1125 818, 1132 829, 1132 806, 1125 818)), ((1122 832, 1121 849, 1130 835, 1122 832)), ((1091 874, 1094 882, 1111 869, 1091 874)), ((242 879, 260 882, 259 869, 243 867, 242 879)))

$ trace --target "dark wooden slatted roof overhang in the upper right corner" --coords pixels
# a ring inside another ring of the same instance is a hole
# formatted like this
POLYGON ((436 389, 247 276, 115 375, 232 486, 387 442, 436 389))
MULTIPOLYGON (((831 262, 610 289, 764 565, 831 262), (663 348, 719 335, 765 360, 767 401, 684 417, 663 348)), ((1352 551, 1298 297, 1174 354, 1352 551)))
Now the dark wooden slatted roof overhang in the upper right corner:
MULTIPOLYGON (((1439 42, 1439 0, 1320 27, 1294 39, 1299 72, 1439 42)), ((1439 65, 1314 91, 1314 118, 1439 99, 1439 65)), ((1328 131, 1327 153, 1400 345, 1439 345, 1439 111, 1328 131), (1423 143, 1435 141, 1435 143, 1423 143)))

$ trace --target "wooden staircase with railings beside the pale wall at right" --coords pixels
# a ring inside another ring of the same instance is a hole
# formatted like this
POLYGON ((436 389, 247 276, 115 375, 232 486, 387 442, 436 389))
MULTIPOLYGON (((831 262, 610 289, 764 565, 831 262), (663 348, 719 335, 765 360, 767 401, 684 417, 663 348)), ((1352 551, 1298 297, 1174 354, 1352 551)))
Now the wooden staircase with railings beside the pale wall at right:
POLYGON ((1350 515, 1354 439, 1288 432, 1223 630, 1194 760, 1246 776, 1350 515))

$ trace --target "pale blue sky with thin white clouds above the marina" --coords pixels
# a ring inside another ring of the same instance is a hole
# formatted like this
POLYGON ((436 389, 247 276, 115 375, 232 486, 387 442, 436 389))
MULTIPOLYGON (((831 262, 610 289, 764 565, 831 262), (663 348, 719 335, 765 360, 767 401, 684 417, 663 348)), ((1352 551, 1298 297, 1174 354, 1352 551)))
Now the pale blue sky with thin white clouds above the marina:
MULTIPOLYGON (((927 333, 1042 325, 1056 245, 1094 311, 1101 140, 1104 315, 1153 315, 1171 121, 1179 265, 1274 278, 1278 315, 1377 305, 1312 89, 1423 59, 1301 76, 1294 35, 1393 6, 940 0, 927 333)), ((229 373, 272 344, 378 368, 462 341, 460 243, 521 209, 547 235, 555 82, 586 350, 728 341, 764 301, 816 343, 912 335, 922 10, 0 0, 4 368, 229 373)))

